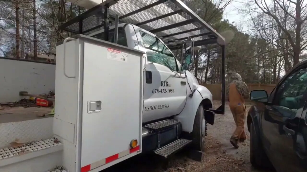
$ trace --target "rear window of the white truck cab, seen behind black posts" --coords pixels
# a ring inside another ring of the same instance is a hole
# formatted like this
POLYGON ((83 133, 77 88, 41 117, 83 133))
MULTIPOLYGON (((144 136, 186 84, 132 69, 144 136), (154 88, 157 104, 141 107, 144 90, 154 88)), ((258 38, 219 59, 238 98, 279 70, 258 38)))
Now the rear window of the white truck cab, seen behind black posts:
MULTIPOLYGON (((104 33, 101 32, 101 33, 98 33, 96 35, 93 35, 92 37, 103 40, 104 33)), ((109 40, 108 41, 114 42, 114 29, 109 30, 109 40)), ((118 28, 117 44, 128 47, 127 39, 126 39, 126 33, 125 33, 125 29, 123 27, 118 28)))

